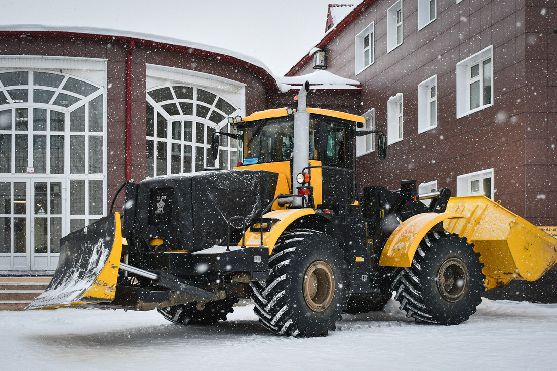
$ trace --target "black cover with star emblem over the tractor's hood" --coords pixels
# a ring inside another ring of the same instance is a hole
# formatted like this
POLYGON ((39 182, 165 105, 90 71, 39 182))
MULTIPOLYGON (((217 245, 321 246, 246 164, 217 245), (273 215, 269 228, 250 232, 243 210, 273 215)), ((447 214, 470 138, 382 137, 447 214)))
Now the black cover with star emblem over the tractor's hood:
MULTIPOLYGON (((162 238, 169 250, 226 243, 228 219, 259 217, 275 196, 278 174, 217 170, 145 179, 136 216, 143 240, 162 238)), ((240 225, 240 221, 234 222, 240 225)), ((236 241, 232 241, 235 243, 236 241)))

